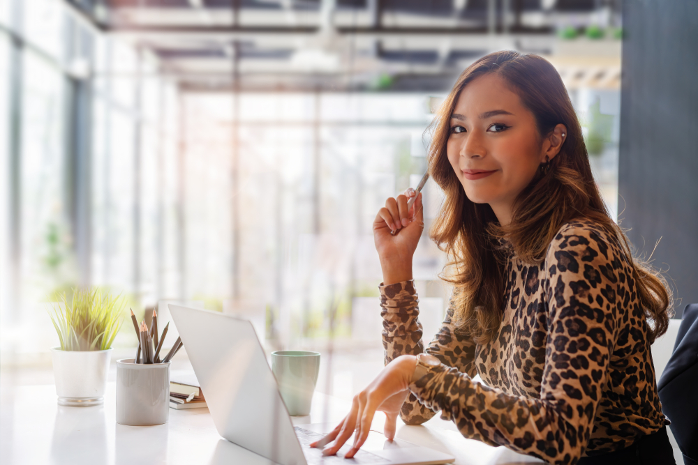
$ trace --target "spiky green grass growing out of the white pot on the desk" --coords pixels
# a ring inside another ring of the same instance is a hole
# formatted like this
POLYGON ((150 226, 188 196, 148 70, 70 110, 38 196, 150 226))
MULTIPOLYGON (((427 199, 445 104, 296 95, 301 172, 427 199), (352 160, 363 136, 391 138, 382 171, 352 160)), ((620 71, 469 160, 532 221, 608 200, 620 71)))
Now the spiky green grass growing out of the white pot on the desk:
POLYGON ((73 289, 54 307, 51 321, 61 341, 61 351, 110 349, 124 318, 121 297, 114 298, 98 288, 73 289))

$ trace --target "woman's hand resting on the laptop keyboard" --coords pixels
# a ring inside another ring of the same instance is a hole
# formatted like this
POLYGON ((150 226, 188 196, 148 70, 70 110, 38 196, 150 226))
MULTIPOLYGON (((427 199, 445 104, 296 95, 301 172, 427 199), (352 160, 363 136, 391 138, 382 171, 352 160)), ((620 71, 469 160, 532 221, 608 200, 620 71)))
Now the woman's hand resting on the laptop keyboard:
POLYGON ((395 436, 396 421, 402 404, 409 394, 408 386, 417 366, 417 357, 399 356, 385 365, 376 379, 366 389, 354 396, 351 411, 327 436, 311 443, 312 448, 321 448, 323 455, 334 455, 346 443, 353 432, 354 445, 344 457, 354 457, 366 441, 371 429, 373 414, 377 410, 385 412, 385 437, 395 436), (332 442, 334 441, 334 442, 332 442))

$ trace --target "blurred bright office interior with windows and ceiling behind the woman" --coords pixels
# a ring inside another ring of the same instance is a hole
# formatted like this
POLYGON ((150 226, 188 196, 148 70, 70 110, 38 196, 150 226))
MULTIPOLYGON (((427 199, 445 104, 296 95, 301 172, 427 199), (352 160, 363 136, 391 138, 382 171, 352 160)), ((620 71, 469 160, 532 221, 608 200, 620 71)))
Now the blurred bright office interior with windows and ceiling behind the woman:
MULTIPOLYGON (((3 383, 53 382, 47 312, 92 285, 161 325, 166 302, 251 319, 267 351, 328 355, 318 390, 353 395, 383 366, 371 223, 424 174, 433 112, 480 56, 554 64, 616 218, 620 3, 1 0, 3 383)), ((424 237, 426 340, 444 263, 424 237)), ((114 360, 136 346, 126 319, 114 360)))

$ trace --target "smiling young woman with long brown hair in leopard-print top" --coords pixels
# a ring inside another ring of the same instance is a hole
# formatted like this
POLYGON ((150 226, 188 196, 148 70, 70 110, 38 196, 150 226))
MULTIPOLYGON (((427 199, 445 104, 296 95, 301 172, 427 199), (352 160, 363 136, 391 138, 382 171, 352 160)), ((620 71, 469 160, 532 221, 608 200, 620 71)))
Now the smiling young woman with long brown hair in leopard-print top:
POLYGON ((441 411, 467 438, 554 464, 674 464, 650 352, 671 294, 609 218, 556 70, 534 54, 484 56, 434 129, 429 172, 445 201, 431 238, 454 285, 443 327, 425 351, 421 195, 410 211, 415 192, 387 199, 373 223, 386 366, 313 447, 335 454, 355 432, 353 457, 376 410, 388 439, 398 415, 419 425, 441 411))

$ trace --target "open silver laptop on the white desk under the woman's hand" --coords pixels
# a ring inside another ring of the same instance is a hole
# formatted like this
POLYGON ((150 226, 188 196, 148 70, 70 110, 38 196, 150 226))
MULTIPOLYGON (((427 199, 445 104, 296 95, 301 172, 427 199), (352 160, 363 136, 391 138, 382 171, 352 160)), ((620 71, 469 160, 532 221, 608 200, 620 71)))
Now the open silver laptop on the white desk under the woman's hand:
POLYGON ((350 438, 336 456, 309 444, 332 431, 329 424, 294 427, 257 334, 249 321, 169 304, 218 434, 280 465, 431 465, 455 457, 370 432, 352 459, 350 438))

